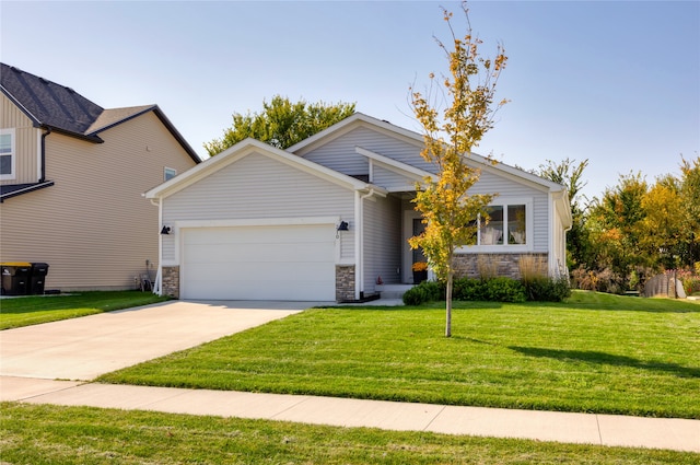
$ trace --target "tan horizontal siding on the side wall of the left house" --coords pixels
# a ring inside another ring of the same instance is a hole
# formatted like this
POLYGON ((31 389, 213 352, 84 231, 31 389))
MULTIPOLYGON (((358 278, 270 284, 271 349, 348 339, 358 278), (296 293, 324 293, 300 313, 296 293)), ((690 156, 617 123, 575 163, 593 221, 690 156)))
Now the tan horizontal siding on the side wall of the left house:
POLYGON ((158 266, 158 208, 142 193, 163 182, 163 167, 195 165, 153 113, 91 143, 46 138, 51 187, 5 200, 3 261, 49 264, 48 289, 130 289, 145 260, 158 266))

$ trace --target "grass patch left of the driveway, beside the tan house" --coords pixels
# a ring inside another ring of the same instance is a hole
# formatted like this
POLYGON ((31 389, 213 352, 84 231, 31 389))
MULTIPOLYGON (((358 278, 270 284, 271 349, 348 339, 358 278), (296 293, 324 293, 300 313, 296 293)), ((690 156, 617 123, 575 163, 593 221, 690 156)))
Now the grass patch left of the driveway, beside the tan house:
POLYGON ((0 300, 0 329, 75 318, 114 310, 164 302, 167 298, 139 291, 91 291, 0 300))

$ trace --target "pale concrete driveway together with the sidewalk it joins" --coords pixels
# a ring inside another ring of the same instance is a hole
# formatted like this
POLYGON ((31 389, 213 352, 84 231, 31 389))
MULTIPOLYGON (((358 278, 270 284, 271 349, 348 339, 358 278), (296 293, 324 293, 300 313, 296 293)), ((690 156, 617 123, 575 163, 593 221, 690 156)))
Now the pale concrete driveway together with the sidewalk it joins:
POLYGON ((177 301, 3 330, 0 400, 700 453, 700 420, 89 383, 318 304, 177 301))

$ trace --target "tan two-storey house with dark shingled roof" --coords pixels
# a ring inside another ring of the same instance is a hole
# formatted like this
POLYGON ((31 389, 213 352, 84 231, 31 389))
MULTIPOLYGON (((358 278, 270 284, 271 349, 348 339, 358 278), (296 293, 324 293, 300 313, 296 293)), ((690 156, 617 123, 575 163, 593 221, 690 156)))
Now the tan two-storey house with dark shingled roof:
POLYGON ((0 261, 46 263, 45 289, 132 289, 155 277, 142 193, 200 162, 156 105, 105 109, 0 63, 0 261))

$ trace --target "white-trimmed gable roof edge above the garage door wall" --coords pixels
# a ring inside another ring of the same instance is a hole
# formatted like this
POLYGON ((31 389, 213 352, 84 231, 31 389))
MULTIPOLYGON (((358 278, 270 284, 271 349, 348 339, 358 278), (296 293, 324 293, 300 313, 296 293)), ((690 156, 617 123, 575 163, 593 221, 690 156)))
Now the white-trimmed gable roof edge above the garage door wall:
POLYGON ((293 153, 277 149, 257 139, 247 138, 230 147, 223 152, 205 160, 199 165, 189 168, 179 176, 173 177, 172 179, 159 186, 155 186, 154 188, 144 193, 143 196, 149 199, 168 197, 252 153, 258 153, 272 158, 298 170, 305 171, 317 177, 330 181, 349 189, 374 190, 378 195, 386 195, 386 191, 382 187, 374 186, 352 176, 348 176, 335 170, 330 170, 318 163, 314 163, 301 156, 296 156, 293 153))

